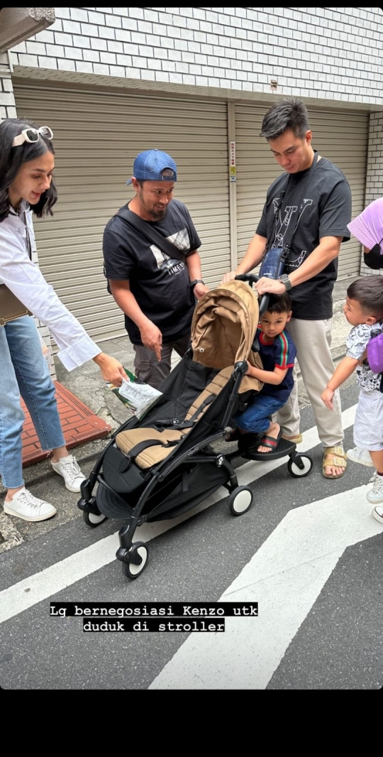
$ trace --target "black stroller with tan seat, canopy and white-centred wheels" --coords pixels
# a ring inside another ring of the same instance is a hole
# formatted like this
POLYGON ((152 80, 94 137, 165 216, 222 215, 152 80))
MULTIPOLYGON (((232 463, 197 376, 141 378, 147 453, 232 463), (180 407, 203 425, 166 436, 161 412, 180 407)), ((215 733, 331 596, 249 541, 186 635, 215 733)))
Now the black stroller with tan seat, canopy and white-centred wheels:
MULTIPOLYGON (((233 515, 249 509, 252 489, 238 485, 233 458, 288 455, 292 475, 310 472, 310 457, 283 439, 271 453, 258 453, 259 438, 251 434, 228 454, 222 444, 220 450, 212 447, 224 441, 233 414, 262 387, 245 375, 248 363, 262 367, 255 341, 260 313, 255 281, 257 276, 240 276, 203 295, 193 315, 191 346, 159 386, 161 396, 143 418, 133 416, 113 433, 82 482, 78 506, 87 525, 106 518, 127 522, 119 530, 116 558, 128 578, 137 578, 147 564, 147 544, 133 543, 137 526, 181 516, 221 486, 230 492, 233 515)), ((261 313, 268 299, 262 298, 261 313)))

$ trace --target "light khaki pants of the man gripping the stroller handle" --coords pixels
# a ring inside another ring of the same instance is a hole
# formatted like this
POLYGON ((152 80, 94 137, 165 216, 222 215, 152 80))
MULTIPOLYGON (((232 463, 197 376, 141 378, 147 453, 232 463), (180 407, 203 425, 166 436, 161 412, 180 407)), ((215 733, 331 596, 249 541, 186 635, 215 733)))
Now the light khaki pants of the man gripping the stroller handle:
MULTIPOLYGON (((320 441, 325 447, 342 444, 344 434, 341 425, 341 400, 339 391, 335 391, 334 410, 328 410, 320 399, 329 378, 335 368, 330 352, 332 319, 324 321, 305 321, 292 318, 287 324, 297 348, 297 360, 301 369, 302 380, 313 408, 320 441)), ((283 435, 296 436, 299 433, 300 413, 298 407, 298 388, 294 371, 294 388, 289 399, 276 413, 276 422, 283 428, 283 435)))

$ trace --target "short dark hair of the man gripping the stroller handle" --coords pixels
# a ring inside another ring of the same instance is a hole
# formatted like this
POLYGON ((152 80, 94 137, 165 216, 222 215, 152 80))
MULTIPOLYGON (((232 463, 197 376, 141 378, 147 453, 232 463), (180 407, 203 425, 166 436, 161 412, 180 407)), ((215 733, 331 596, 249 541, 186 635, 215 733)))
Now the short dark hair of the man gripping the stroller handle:
POLYGON ((280 102, 272 105, 262 121, 260 136, 266 137, 266 139, 276 139, 286 129, 292 129, 299 139, 304 139, 306 132, 310 129, 307 107, 298 98, 280 100, 280 102))

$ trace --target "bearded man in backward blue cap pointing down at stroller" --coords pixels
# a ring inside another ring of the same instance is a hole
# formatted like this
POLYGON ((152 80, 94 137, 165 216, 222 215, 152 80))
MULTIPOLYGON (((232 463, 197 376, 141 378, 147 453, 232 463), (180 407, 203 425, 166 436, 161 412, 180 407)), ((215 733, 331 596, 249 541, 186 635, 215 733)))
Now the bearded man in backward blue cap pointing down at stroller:
POLYGON ((171 369, 173 348, 181 357, 185 354, 196 299, 208 287, 202 281, 197 251, 201 240, 186 205, 173 199, 175 161, 160 150, 147 150, 137 155, 133 173, 126 183, 136 194, 128 209, 174 245, 175 257, 153 244, 144 231, 128 225, 119 215, 121 208, 103 233, 104 270, 125 313, 135 352, 134 371, 157 387, 171 369))

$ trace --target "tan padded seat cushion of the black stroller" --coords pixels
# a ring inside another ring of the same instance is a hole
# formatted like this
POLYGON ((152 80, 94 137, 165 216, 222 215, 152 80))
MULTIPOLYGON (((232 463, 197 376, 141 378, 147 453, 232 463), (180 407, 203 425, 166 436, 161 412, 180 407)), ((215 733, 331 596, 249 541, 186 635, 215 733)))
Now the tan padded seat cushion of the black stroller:
MULTIPOLYGON (((227 366, 217 373, 212 382, 193 400, 184 419, 180 419, 180 421, 196 422, 205 413, 209 404, 208 400, 214 399, 227 384, 233 369, 234 366, 227 366)), ((169 447, 165 445, 169 442, 181 441, 190 431, 190 428, 163 428, 162 431, 158 431, 156 428, 131 428, 130 431, 120 431, 116 435, 116 445, 125 455, 128 455, 141 442, 152 439, 153 441, 161 441, 164 446, 156 444, 153 447, 147 447, 134 457, 134 463, 139 468, 147 469, 156 465, 156 463, 161 463, 175 449, 174 445, 169 447)))

